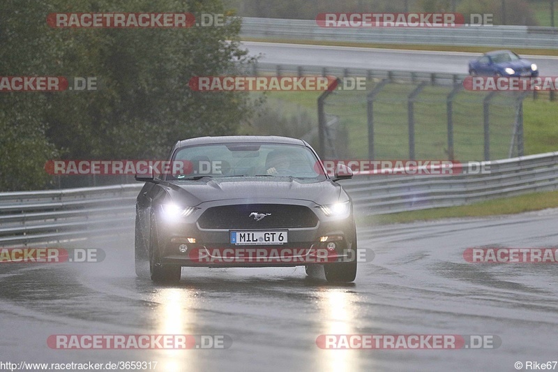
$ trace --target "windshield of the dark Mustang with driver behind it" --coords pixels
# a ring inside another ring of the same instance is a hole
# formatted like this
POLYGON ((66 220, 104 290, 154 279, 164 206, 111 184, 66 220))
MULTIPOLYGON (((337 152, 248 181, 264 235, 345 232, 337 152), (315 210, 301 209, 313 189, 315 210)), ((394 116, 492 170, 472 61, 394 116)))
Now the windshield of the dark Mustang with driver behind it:
POLYGON ((325 179, 315 154, 296 144, 203 144, 174 152, 171 180, 203 177, 295 177, 325 179))

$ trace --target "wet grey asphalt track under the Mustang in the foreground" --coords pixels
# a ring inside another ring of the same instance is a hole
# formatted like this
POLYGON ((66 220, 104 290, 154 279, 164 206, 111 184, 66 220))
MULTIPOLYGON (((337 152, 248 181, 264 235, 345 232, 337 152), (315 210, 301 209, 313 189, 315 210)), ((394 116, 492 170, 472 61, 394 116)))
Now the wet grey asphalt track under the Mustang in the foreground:
MULTIPOLYGON (((472 264, 474 246, 558 246, 558 209, 359 227, 356 282, 303 268, 183 269, 136 278, 133 239, 89 241, 100 263, 3 264, 0 362, 158 362, 156 371, 515 371, 558 360, 556 264, 472 264), (53 334, 227 335, 225 350, 55 350, 53 334), (488 350, 322 350, 320 334, 495 335, 488 350)), ((126 231, 126 230, 123 230, 126 231)), ((558 369, 558 366, 556 367, 558 369)))

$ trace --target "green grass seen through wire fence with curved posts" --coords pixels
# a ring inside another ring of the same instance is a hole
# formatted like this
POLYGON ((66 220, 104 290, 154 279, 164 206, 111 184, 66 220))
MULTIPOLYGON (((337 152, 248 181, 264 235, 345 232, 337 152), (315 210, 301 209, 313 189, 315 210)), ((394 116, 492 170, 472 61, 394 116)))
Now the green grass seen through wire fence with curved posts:
MULTIPOLYGON (((369 89, 374 82, 368 82, 369 89)), ((408 158, 407 97, 416 84, 388 84, 376 97, 375 143, 376 158, 408 158)), ((416 158, 448 158, 446 96, 450 87, 427 86, 418 95, 415 112, 416 158)), ((269 92, 268 102, 285 112, 308 110, 310 117, 317 117, 317 98, 320 92, 269 92), (290 107, 290 108, 289 108, 290 107)), ((326 101, 326 112, 340 118, 347 130, 347 156, 368 158, 368 124, 366 94, 368 91, 344 91, 331 95, 326 101)), ((483 106, 485 93, 461 91, 455 98, 454 109, 454 158, 460 161, 483 160, 483 106)), ((496 96, 490 108, 490 156, 506 158, 515 119, 513 98, 496 96)), ((533 101, 527 98, 524 105, 525 154, 558 150, 558 102, 548 98, 533 101)), ((273 133, 280 134, 280 133, 273 133)), ((282 133, 287 134, 288 133, 282 133)))

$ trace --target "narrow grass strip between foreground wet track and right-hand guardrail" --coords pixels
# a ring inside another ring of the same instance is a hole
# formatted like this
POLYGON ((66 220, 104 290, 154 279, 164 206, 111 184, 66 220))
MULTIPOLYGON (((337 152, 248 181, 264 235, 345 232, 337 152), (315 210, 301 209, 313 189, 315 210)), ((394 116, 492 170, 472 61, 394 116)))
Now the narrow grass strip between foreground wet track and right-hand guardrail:
POLYGON ((465 218, 517 214, 558 207, 558 191, 530 193, 512 198, 501 198, 459 207, 424 209, 377 216, 361 216, 359 225, 384 225, 411 221, 430 221, 440 218, 465 218))

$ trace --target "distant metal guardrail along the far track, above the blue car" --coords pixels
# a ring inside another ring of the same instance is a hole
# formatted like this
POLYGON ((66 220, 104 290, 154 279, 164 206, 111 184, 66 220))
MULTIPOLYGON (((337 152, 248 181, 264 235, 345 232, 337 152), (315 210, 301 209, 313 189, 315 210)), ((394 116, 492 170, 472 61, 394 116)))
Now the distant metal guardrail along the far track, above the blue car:
POLYGON ((324 28, 315 20, 243 17, 241 37, 347 43, 458 45, 558 49, 553 27, 491 26, 451 28, 324 28))

